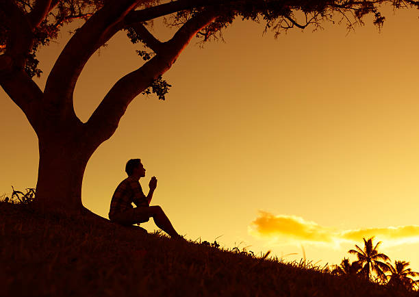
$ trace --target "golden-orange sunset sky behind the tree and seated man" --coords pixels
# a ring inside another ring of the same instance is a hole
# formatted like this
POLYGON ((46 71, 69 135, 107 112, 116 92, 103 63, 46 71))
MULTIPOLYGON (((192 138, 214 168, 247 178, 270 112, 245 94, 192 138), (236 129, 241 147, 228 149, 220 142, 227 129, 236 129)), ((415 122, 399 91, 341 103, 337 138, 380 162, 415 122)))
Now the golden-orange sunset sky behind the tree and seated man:
MULTIPOLYGON (((138 96, 90 159, 84 205, 107 217, 127 159, 139 157, 146 194, 158 179, 151 204, 187 239, 288 261, 304 248, 324 265, 375 235, 381 252, 419 271, 419 12, 385 16, 381 32, 368 18, 355 32, 324 24, 275 40, 238 20, 226 43, 192 40, 164 75, 166 101, 138 96)), ((42 88, 69 29, 39 51, 42 88)), ((142 63, 136 49, 120 33, 91 58, 75 90, 81 120, 142 63)), ((10 194, 35 187, 38 143, 0 96, 0 194, 10 194)), ((157 229, 152 221, 142 227, 157 229)))

